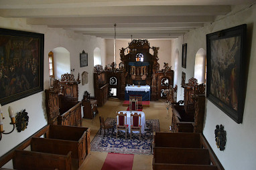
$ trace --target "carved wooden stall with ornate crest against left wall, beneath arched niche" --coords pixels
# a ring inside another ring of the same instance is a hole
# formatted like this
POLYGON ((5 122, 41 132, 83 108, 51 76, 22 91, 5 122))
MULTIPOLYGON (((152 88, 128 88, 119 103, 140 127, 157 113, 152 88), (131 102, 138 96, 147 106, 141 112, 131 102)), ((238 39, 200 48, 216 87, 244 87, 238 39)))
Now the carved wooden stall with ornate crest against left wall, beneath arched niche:
POLYGON ((55 80, 54 87, 46 89, 46 111, 48 124, 81 126, 81 105, 78 101, 78 84, 74 75, 62 75, 62 81, 55 80))

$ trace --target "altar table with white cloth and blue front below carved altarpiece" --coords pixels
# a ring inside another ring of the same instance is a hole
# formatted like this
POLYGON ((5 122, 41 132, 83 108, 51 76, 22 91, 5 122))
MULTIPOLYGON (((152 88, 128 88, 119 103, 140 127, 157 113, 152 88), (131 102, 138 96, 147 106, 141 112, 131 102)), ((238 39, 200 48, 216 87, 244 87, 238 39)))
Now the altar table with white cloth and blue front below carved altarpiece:
POLYGON ((129 101, 130 95, 142 96, 142 101, 150 101, 150 86, 149 85, 134 85, 125 87, 125 101, 129 101))

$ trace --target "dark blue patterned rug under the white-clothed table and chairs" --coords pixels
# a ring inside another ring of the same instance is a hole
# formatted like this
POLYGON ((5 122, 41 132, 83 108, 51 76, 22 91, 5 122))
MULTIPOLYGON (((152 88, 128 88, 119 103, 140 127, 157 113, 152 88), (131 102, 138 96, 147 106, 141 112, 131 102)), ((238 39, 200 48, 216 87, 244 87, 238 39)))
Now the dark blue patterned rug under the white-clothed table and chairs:
MULTIPOLYGON (((116 119, 108 117, 106 123, 111 123, 111 125, 116 125, 116 119)), ((159 120, 149 119, 146 120, 147 129, 145 133, 141 133, 141 140, 139 140, 139 133, 132 133, 131 139, 130 134, 127 134, 127 139, 125 139, 125 132, 119 132, 116 138, 116 129, 112 134, 112 129, 105 133, 103 137, 104 130, 102 129, 101 135, 98 131, 97 135, 92 139, 90 143, 91 151, 105 151, 113 153, 126 153, 126 154, 151 154, 151 143, 153 139, 153 132, 159 132, 159 120)))

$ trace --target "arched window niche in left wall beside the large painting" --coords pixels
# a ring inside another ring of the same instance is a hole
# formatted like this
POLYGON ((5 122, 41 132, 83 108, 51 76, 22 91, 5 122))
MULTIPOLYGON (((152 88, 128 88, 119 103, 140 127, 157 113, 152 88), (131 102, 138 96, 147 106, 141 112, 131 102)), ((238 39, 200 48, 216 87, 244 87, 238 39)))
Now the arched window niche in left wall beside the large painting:
POLYGON ((54 68, 54 78, 60 79, 64 73, 70 73, 70 52, 64 47, 57 47, 50 51, 49 56, 49 70, 51 69, 50 56, 52 57, 52 68, 54 68))

